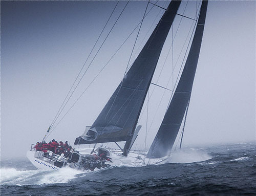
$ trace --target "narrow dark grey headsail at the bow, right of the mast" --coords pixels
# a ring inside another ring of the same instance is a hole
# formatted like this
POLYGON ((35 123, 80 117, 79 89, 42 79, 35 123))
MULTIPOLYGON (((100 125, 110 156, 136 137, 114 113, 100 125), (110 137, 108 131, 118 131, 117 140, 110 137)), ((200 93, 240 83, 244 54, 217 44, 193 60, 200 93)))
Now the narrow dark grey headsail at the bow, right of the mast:
POLYGON ((197 28, 183 72, 173 99, 165 113, 162 124, 150 147, 150 150, 148 151, 147 158, 165 157, 169 154, 174 145, 188 101, 190 99, 193 81, 196 74, 197 62, 204 31, 207 3, 207 1, 203 1, 202 3, 197 28))

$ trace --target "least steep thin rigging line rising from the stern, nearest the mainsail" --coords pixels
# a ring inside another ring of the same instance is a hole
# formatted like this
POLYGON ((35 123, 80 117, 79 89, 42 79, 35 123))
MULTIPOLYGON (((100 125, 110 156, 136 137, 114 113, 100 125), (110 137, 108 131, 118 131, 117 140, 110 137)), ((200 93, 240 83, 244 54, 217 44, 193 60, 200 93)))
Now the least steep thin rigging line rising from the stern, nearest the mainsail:
MULTIPOLYGON (((153 9, 154 7, 152 7, 145 15, 145 17, 147 16, 148 13, 150 13, 150 11, 153 9)), ((141 20, 142 21, 142 20, 141 20)), ((111 56, 111 58, 109 59, 108 62, 106 62, 106 64, 103 66, 103 68, 99 71, 99 73, 94 77, 94 79, 91 81, 91 83, 87 86, 87 88, 82 92, 82 94, 78 97, 78 99, 74 102, 74 104, 69 108, 68 112, 60 119, 60 121, 69 113, 69 111, 73 108, 73 106, 77 103, 77 101, 82 97, 82 95, 89 89, 89 87, 91 86, 91 84, 95 81, 95 79, 100 75, 100 73, 104 70, 104 68, 109 64, 109 62, 113 59, 113 57, 116 55, 116 53, 122 48, 122 46, 124 45, 124 43, 131 37, 131 35, 133 34, 133 32, 137 29, 137 27, 140 25, 141 21, 139 22, 139 24, 134 28, 134 30, 130 33, 130 35, 123 41, 123 43, 120 45, 120 47, 117 49, 117 51, 111 56)), ((60 123, 60 121, 57 123, 57 125, 60 123)), ((56 126, 57 126, 56 125, 56 126)), ((56 126, 54 128, 56 128, 56 126)), ((52 131, 54 130, 54 128, 52 129, 52 131)), ((49 135, 52 133, 52 131, 49 133, 49 135)), ((48 137, 48 136, 47 136, 48 137)))

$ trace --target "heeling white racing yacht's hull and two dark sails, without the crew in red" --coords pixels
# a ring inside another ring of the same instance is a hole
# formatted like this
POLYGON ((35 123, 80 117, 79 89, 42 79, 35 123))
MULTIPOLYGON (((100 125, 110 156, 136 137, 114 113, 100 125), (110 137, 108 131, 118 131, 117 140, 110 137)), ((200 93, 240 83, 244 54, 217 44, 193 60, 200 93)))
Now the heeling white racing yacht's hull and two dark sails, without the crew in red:
POLYGON ((94 168, 98 169, 113 165, 162 164, 167 161, 183 119, 187 114, 203 38, 207 1, 202 2, 197 25, 195 26, 194 38, 183 71, 150 149, 148 151, 132 150, 132 146, 141 129, 141 125, 137 125, 137 123, 142 106, 152 84, 152 78, 164 42, 173 25, 180 4, 181 1, 170 2, 155 30, 103 107, 103 110, 94 123, 88 126, 85 132, 76 138, 74 143, 78 146, 93 144, 93 147, 76 148, 68 157, 64 157, 51 152, 46 154, 42 151, 35 151, 32 145, 27 157, 35 167, 58 170, 61 167, 70 166, 89 170, 90 166, 88 164, 95 164, 93 158, 98 157, 99 154, 104 154, 109 160, 104 159, 103 165, 97 160, 98 162, 96 162, 99 164, 94 168), (103 144, 110 142, 114 142, 118 149, 103 147, 103 144), (120 147, 117 142, 125 142, 124 147, 120 147))

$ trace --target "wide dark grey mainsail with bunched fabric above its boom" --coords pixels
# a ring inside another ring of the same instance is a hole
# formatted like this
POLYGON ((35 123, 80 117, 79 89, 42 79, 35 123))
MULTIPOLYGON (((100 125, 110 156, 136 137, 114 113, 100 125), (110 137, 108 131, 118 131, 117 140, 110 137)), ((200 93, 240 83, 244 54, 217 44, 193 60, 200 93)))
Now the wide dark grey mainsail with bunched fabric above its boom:
MULTIPOLYGON (((75 144, 132 141, 158 58, 181 1, 172 1, 110 100, 75 144)), ((130 146, 127 145, 127 146, 130 146)))

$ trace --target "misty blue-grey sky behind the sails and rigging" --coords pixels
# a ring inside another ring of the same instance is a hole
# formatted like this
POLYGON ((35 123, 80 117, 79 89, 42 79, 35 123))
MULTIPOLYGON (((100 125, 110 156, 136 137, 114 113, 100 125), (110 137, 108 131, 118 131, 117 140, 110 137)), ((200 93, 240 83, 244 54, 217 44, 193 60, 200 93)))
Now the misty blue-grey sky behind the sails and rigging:
MULTIPOLYGON (((67 108, 136 27, 143 16, 146 3, 130 2, 127 5, 67 108)), ((115 4, 116 2, 109 1, 1 2, 3 158, 24 157, 30 144, 44 137, 115 4)), ((100 43, 125 4, 126 2, 119 3, 100 43)), ((183 13, 185 4, 186 2, 182 3, 179 13, 183 13)), ((162 1, 158 5, 166 7, 167 3, 162 1)), ((255 140, 255 10, 255 1, 209 2, 187 116, 185 145, 255 140)), ((162 13, 160 8, 153 8, 143 21, 135 51, 144 36, 148 37, 153 31, 162 13), (146 34, 156 16, 150 33, 146 34)), ((194 17, 196 2, 189 2, 184 14, 194 17)), ((181 17, 177 16, 176 19, 174 32, 181 17)), ((174 61, 178 58, 191 23, 189 19, 182 19, 174 41, 174 61)), ((73 143, 84 128, 93 123, 122 79, 136 32, 49 139, 73 143)), ((153 82, 157 81, 171 42, 172 35, 169 34, 153 82)), ((98 44, 96 48, 99 46, 98 44)), ((140 48, 142 46, 143 44, 140 48)), ((95 52, 96 50, 93 54, 95 52)), ((133 56, 133 60, 134 58, 133 56)), ((172 58, 168 56, 158 84, 167 84, 172 74, 171 61, 172 58)), ((181 61, 179 59, 177 63, 175 76, 181 61)), ((168 88, 172 88, 172 85, 170 82, 168 88)), ((150 92, 153 89, 154 86, 151 86, 150 92)), ((156 88, 150 100, 148 126, 156 113, 162 93, 162 89, 156 88)), ((165 93, 156 113, 147 134, 147 144, 151 144, 155 137, 169 95, 169 92, 165 93)), ((145 117, 144 112, 139 121, 143 125, 137 141, 140 144, 143 144, 145 138, 145 117)))

